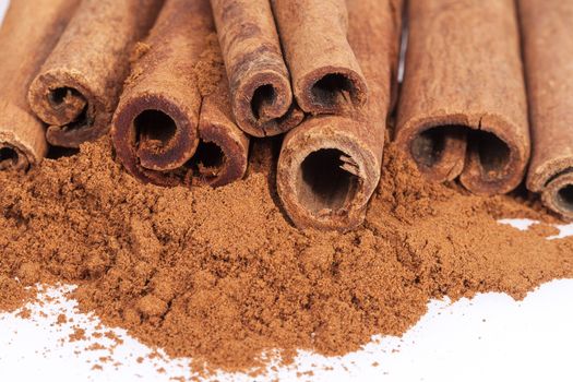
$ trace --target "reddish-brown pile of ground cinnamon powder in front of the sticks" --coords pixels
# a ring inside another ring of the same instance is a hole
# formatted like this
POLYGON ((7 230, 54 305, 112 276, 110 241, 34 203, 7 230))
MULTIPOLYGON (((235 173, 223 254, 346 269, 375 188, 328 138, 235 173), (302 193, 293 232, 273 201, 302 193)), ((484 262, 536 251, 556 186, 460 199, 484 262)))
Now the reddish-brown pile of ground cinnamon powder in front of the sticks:
POLYGON ((265 354, 288 362, 297 349, 343 355, 399 335, 431 298, 523 298, 573 277, 573 238, 497 223, 547 222, 535 203, 428 183, 392 146, 361 228, 299 231, 277 204, 273 154, 255 143, 247 178, 216 190, 142 186, 107 139, 0 174, 0 309, 36 283, 77 284, 72 297, 106 324, 201 367, 244 370, 265 354))

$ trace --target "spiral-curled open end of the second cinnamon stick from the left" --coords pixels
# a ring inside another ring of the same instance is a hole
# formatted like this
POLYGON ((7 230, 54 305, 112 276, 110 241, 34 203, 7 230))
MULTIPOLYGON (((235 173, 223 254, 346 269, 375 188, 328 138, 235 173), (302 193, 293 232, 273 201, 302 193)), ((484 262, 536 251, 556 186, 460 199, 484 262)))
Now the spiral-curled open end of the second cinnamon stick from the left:
POLYGON ((111 107, 89 87, 82 73, 65 69, 41 72, 28 92, 32 110, 48 123, 46 139, 55 146, 79 147, 108 132, 111 107))

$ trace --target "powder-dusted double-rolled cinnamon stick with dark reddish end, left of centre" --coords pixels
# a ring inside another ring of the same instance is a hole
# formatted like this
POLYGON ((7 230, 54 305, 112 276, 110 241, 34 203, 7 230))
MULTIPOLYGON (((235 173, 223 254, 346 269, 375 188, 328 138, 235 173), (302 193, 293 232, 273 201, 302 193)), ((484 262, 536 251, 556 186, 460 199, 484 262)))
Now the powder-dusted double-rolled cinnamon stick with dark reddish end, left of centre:
POLYGON ((114 117, 118 158, 159 186, 223 186, 246 171, 208 0, 167 0, 114 117))

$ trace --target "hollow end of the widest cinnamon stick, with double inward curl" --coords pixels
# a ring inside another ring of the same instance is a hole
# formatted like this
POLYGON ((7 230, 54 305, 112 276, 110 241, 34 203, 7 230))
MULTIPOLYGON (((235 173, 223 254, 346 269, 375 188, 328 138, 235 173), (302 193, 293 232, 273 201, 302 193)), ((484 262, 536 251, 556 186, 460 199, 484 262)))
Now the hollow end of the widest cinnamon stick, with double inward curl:
POLYGON ((502 194, 522 182, 529 156, 508 124, 492 116, 433 116, 405 122, 395 140, 428 179, 459 177, 473 193, 502 194))

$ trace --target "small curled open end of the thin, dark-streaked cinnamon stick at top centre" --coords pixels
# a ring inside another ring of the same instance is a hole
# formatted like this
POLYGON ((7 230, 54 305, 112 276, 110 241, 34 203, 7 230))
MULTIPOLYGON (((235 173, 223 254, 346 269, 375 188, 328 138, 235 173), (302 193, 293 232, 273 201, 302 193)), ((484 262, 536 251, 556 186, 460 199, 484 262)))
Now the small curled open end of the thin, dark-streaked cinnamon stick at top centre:
POLYGON ((294 103, 286 73, 255 70, 232 83, 232 110, 237 124, 248 134, 263 138, 282 134, 300 124, 302 110, 294 103))

